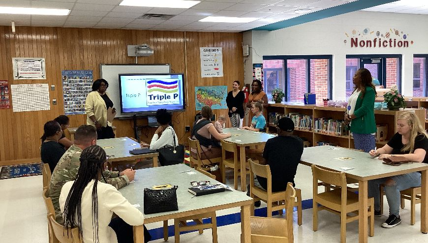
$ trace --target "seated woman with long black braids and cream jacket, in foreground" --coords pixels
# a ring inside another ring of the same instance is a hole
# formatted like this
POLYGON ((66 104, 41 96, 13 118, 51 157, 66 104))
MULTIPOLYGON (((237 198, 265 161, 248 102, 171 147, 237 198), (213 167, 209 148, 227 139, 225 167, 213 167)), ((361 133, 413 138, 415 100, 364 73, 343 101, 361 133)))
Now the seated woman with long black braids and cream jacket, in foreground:
MULTIPOLYGON (((79 227, 85 243, 132 243, 131 225, 142 225, 144 216, 114 186, 99 181, 106 161, 105 151, 97 145, 83 150, 76 180, 61 189, 64 227, 79 227), (112 219, 113 213, 119 217, 112 219)), ((151 237, 146 228, 144 235, 148 242, 151 237)))

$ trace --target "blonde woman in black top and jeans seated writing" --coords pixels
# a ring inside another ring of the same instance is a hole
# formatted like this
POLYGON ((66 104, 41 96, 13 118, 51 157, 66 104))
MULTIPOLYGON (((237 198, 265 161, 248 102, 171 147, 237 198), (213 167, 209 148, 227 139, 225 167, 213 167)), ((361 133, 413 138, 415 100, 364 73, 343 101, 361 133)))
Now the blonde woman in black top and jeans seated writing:
MULTIPOLYGON (((428 163, 427 132, 413 112, 403 112, 397 117, 397 133, 378 150, 371 150, 371 156, 379 159, 391 156, 405 157, 409 161, 428 163)), ((385 165, 387 166, 387 165, 385 165)), ((374 215, 381 216, 379 185, 385 184, 385 195, 390 208, 388 219, 382 223, 384 228, 393 228, 401 223, 399 216, 400 191, 410 187, 421 186, 421 173, 413 172, 404 175, 376 179, 368 182, 368 197, 374 198, 374 215)))

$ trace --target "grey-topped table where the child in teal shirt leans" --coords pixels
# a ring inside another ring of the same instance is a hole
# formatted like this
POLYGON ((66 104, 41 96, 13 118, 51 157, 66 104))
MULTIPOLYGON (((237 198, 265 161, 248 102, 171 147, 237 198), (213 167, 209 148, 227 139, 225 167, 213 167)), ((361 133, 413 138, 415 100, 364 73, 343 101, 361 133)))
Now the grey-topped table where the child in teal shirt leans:
POLYGON ((264 132, 255 132, 245 129, 224 128, 223 133, 230 132, 232 137, 224 139, 229 143, 235 143, 240 147, 240 162, 241 162, 241 190, 246 190, 246 175, 245 175, 245 147, 264 145, 268 139, 275 137, 274 134, 264 132), (238 135, 237 135, 238 134, 238 135), (243 173, 244 171, 244 173, 243 173))

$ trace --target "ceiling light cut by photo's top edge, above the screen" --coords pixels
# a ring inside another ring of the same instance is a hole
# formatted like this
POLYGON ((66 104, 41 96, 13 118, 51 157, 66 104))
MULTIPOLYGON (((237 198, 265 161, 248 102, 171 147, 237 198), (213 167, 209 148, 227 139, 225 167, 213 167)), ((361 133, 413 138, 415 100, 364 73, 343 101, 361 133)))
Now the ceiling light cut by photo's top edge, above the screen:
POLYGON ((123 0, 122 6, 191 8, 201 1, 189 0, 123 0))

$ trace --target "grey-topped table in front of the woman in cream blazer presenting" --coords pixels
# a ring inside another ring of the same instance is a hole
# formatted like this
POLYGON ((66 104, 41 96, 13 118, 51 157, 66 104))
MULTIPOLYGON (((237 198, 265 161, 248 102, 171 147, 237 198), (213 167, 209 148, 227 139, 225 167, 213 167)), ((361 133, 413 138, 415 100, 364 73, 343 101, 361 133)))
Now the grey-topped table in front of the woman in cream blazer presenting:
POLYGON ((128 137, 99 139, 96 140, 96 145, 103 148, 107 155, 110 156, 109 163, 153 157, 153 167, 157 167, 157 156, 159 156, 159 153, 153 152, 137 155, 130 153, 130 150, 140 148, 140 144, 128 137))

